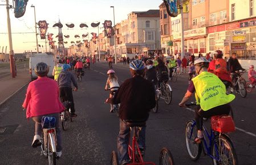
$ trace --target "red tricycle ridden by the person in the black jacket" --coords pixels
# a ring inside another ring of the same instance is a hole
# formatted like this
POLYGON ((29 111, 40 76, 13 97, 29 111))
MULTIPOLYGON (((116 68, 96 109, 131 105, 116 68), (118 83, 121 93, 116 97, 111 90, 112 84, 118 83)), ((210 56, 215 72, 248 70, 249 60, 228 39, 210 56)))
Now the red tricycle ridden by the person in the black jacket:
MULTIPOLYGON (((142 127, 146 126, 145 122, 142 123, 128 123, 128 126, 132 130, 133 128, 133 137, 132 141, 131 138, 129 138, 129 145, 128 145, 128 154, 129 154, 129 163, 127 165, 146 165, 151 164, 155 165, 154 162, 144 162, 144 155, 141 153, 141 150, 138 145, 138 137, 137 137, 137 130, 141 130, 142 127)), ((130 136, 129 136, 130 137, 130 136)), ((112 165, 119 165, 118 156, 116 154, 116 151, 112 151, 111 153, 111 164, 112 165)), ((172 154, 168 149, 165 147, 162 148, 160 151, 160 165, 166 164, 166 165, 174 165, 172 154)))

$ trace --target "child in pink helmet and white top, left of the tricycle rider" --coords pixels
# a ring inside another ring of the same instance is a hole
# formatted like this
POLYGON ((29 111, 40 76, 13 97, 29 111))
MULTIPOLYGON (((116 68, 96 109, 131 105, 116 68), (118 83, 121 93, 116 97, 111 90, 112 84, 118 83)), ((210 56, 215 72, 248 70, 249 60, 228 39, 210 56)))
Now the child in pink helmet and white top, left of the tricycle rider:
MULTIPOLYGON (((108 90, 108 87, 110 89, 109 98, 112 98, 116 90, 119 88, 118 79, 115 75, 115 71, 110 69, 108 72, 108 79, 107 83, 105 85, 105 90, 108 90)), ((110 112, 114 112, 113 104, 110 104, 110 112)))

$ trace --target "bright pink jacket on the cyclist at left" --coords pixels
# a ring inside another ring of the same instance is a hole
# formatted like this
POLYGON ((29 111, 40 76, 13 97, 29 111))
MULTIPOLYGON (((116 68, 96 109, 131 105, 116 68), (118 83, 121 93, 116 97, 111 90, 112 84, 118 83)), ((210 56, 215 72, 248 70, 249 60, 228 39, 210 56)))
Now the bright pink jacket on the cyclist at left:
POLYGON ((64 110, 59 100, 58 84, 48 77, 38 77, 29 84, 22 106, 27 109, 27 118, 64 110))

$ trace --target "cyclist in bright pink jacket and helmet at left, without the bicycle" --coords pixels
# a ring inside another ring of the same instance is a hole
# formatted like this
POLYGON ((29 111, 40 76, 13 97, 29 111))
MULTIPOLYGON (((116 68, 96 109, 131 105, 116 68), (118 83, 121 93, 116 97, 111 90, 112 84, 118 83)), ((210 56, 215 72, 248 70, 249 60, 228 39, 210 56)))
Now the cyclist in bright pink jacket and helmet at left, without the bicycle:
POLYGON ((59 127, 59 113, 63 112, 65 107, 59 101, 59 87, 56 81, 47 77, 49 67, 46 63, 35 65, 35 73, 38 79, 32 81, 27 87, 26 98, 22 104, 26 110, 26 117, 32 118, 35 122, 35 136, 32 147, 41 145, 40 139, 42 134, 41 121, 43 116, 55 117, 56 119, 56 139, 57 139, 57 156, 62 155, 62 136, 59 127))

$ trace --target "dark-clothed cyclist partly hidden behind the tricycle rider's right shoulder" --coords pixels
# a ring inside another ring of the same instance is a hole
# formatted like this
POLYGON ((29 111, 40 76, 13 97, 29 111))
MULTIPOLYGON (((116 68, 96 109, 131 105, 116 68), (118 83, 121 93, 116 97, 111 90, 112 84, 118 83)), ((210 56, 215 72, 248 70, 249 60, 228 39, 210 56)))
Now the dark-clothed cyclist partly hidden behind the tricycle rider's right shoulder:
POLYGON ((147 60, 146 63, 147 63, 147 65, 146 65, 147 69, 145 70, 146 79, 151 81, 153 83, 153 85, 156 85, 157 77, 156 77, 156 69, 153 66, 153 61, 147 60))

